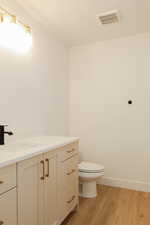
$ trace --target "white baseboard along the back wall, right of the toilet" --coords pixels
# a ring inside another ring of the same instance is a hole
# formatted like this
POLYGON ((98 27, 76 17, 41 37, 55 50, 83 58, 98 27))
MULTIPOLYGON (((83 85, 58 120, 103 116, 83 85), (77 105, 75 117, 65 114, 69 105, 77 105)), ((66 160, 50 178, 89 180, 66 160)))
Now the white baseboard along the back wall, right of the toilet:
POLYGON ((98 184, 126 188, 136 191, 150 192, 150 183, 145 183, 141 181, 104 177, 98 182, 98 184))

